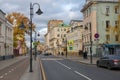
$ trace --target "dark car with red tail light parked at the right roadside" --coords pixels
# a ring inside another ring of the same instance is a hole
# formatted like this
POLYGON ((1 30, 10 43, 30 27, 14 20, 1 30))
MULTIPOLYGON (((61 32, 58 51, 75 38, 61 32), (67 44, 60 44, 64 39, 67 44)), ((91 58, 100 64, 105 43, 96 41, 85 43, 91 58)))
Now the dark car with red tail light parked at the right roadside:
POLYGON ((107 67, 108 69, 120 68, 120 56, 108 55, 101 57, 99 60, 97 60, 96 65, 98 67, 107 67))

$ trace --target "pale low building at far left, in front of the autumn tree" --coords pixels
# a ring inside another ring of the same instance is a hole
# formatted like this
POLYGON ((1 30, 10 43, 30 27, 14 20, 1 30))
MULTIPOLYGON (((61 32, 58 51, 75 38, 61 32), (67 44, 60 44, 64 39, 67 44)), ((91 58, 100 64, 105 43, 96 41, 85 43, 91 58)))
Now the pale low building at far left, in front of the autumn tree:
POLYGON ((13 57, 13 29, 0 10, 0 60, 13 57))

